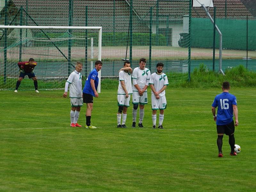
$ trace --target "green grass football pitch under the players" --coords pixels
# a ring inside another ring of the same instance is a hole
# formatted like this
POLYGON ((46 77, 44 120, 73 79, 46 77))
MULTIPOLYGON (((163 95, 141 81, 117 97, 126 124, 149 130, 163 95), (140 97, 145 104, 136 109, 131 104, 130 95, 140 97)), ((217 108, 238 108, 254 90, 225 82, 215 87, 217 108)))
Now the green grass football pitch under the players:
POLYGON ((229 156, 224 136, 223 158, 211 113, 221 89, 168 88, 163 130, 151 128, 150 97, 144 128, 131 128, 132 107, 116 128, 116 91, 94 99, 93 130, 69 127, 63 90, 0 91, 0 191, 255 191, 255 88, 230 90, 241 153, 229 156))

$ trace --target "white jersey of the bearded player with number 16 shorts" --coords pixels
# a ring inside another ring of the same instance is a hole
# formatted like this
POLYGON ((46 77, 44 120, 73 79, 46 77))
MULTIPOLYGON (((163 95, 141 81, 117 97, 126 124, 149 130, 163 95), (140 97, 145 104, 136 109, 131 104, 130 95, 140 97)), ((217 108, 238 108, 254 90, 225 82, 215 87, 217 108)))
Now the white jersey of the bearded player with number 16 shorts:
MULTIPOLYGON (((150 76, 149 84, 154 85, 156 92, 161 90, 164 87, 164 85, 169 85, 168 78, 164 73, 162 73, 161 75, 158 75, 157 73, 153 73, 150 76)), ((154 94, 152 90, 151 90, 151 94, 154 94)), ((165 95, 165 90, 159 93, 160 97, 162 97, 163 95, 165 95)))

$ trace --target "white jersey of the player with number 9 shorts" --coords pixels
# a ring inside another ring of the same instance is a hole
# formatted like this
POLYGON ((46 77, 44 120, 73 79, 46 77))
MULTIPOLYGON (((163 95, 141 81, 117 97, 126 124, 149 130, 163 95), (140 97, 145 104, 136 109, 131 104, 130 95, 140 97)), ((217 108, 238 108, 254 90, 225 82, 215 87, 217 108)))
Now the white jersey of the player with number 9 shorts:
POLYGON ((150 70, 148 68, 141 70, 139 67, 136 67, 132 72, 132 91, 138 91, 134 86, 135 84, 138 84, 140 89, 143 89, 145 85, 148 85, 149 79, 150 70))

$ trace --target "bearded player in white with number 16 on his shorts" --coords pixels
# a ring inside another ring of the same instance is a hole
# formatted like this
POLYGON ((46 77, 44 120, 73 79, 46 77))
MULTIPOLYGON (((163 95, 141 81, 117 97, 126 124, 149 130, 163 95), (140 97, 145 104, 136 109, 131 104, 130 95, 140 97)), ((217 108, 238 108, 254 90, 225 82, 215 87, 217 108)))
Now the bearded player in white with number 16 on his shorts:
POLYGON ((158 128, 163 128, 163 120, 164 120, 164 109, 166 109, 166 98, 165 98, 165 89, 167 87, 168 79, 167 76, 163 73, 164 64, 157 63, 156 65, 156 73, 153 73, 150 76, 149 86, 151 88, 151 106, 152 106, 152 122, 153 129, 156 128, 156 111, 160 110, 159 114, 159 123, 158 128))

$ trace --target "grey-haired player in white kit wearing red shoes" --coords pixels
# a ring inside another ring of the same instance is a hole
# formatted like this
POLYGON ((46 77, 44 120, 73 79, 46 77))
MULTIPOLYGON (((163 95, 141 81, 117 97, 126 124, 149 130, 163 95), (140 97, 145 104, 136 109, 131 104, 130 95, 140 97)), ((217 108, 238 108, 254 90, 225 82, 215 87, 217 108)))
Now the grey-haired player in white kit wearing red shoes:
POLYGON ((80 73, 82 69, 83 64, 80 61, 77 61, 76 70, 69 75, 68 80, 65 84, 65 92, 63 94, 64 98, 66 98, 68 95, 69 85, 69 98, 71 103, 70 127, 82 127, 77 123, 80 109, 83 106, 82 75, 80 73))

